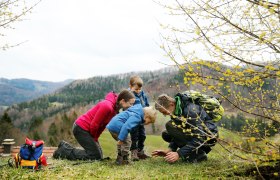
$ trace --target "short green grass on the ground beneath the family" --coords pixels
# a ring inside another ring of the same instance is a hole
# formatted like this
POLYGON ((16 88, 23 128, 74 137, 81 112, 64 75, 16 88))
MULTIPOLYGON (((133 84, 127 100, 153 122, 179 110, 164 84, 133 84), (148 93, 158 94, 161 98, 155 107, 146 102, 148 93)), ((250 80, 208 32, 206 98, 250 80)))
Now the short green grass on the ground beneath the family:
MULTIPOLYGON (((100 142, 104 156, 111 157, 111 160, 89 162, 50 158, 50 165, 37 172, 3 167, 0 169, 0 179, 253 179, 242 176, 242 173, 241 176, 236 176, 235 172, 242 171, 248 165, 230 161, 227 152, 219 145, 209 153, 208 161, 201 163, 179 161, 169 164, 163 158, 157 157, 131 165, 117 166, 114 164, 116 142, 106 131, 102 134, 100 142)), ((155 149, 167 148, 167 143, 160 136, 148 135, 145 144, 148 154, 155 149)), ((0 165, 7 161, 7 158, 0 159, 0 165)))

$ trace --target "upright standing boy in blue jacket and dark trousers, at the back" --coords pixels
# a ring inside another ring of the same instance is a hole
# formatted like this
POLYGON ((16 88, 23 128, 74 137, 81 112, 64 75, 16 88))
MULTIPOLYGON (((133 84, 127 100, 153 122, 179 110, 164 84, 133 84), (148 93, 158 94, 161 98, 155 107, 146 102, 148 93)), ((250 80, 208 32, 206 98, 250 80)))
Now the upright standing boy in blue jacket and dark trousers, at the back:
MULTIPOLYGON (((142 107, 148 107, 149 101, 142 90, 143 80, 139 76, 132 76, 129 80, 129 90, 135 96, 134 104, 141 104, 142 107)), ((146 133, 144 125, 140 124, 135 127, 134 130, 130 133, 131 135, 131 160, 138 161, 139 159, 146 159, 149 156, 144 152, 144 142, 146 140, 146 133)))

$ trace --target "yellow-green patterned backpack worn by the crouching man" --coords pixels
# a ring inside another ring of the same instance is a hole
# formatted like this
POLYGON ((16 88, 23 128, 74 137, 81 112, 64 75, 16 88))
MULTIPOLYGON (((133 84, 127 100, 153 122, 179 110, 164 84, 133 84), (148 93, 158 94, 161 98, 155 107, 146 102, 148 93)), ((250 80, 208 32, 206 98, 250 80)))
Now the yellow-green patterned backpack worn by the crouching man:
POLYGON ((178 93, 177 97, 178 96, 183 96, 187 101, 200 105, 214 122, 221 120, 224 114, 224 108, 220 101, 213 96, 193 90, 178 93))

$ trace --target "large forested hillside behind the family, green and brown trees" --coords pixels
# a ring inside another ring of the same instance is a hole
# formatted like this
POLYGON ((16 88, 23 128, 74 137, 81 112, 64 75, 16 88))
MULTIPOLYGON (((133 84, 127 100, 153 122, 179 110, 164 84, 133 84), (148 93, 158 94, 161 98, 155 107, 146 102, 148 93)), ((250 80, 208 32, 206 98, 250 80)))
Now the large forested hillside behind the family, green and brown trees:
MULTIPOLYGON (((204 69, 204 73, 211 74, 208 69, 204 69)), ((48 145, 54 146, 61 139, 71 141, 73 138, 71 129, 77 117, 104 99, 108 92, 120 92, 122 89, 127 89, 132 75, 139 75, 143 79, 143 90, 150 102, 153 102, 159 94, 167 93, 173 96, 178 91, 187 89, 184 84, 185 73, 176 67, 76 80, 52 94, 12 105, 0 112, 0 141, 4 138, 15 138, 20 144, 22 137, 26 135, 33 139, 44 139, 48 145)), ((193 83, 189 88, 201 89, 193 83)), ((246 126, 243 114, 229 111, 232 108, 227 102, 223 102, 223 107, 227 109, 226 113, 230 116, 224 116, 220 124, 233 131, 240 131, 246 126)), ((258 121, 262 122, 262 119, 258 121)), ((164 122, 157 121, 154 126, 147 129, 147 133, 156 134, 161 132, 162 128, 164 128, 164 122)), ((263 123, 260 123, 259 129, 260 132, 268 131, 263 123)), ((275 131, 270 134, 275 134, 275 131)))

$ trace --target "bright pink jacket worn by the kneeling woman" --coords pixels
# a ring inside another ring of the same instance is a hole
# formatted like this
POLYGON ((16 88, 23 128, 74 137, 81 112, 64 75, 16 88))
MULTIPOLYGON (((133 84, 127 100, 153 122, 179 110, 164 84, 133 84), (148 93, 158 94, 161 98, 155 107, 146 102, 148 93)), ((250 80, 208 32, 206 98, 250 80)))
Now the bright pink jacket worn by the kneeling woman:
POLYGON ((113 92, 108 93, 105 100, 97 103, 88 112, 81 115, 75 123, 88 131, 95 141, 98 141, 106 125, 117 114, 115 110, 116 102, 117 95, 113 92))

